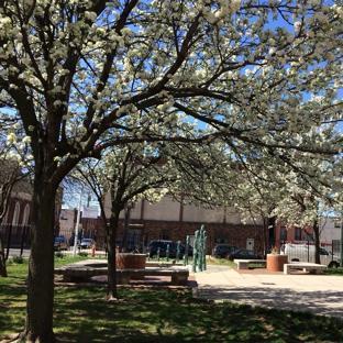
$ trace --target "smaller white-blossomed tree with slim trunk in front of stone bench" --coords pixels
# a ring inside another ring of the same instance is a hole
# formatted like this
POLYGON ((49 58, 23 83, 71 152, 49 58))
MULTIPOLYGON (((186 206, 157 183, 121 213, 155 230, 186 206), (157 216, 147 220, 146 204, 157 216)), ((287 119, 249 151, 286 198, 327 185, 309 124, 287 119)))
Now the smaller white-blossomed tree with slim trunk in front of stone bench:
POLYGON ((135 143, 107 150, 102 161, 86 159, 75 174, 81 176, 98 199, 107 232, 108 299, 117 299, 115 242, 120 212, 141 198, 158 201, 177 180, 177 170, 158 145, 135 143), (106 208, 107 196, 109 209, 106 208))

